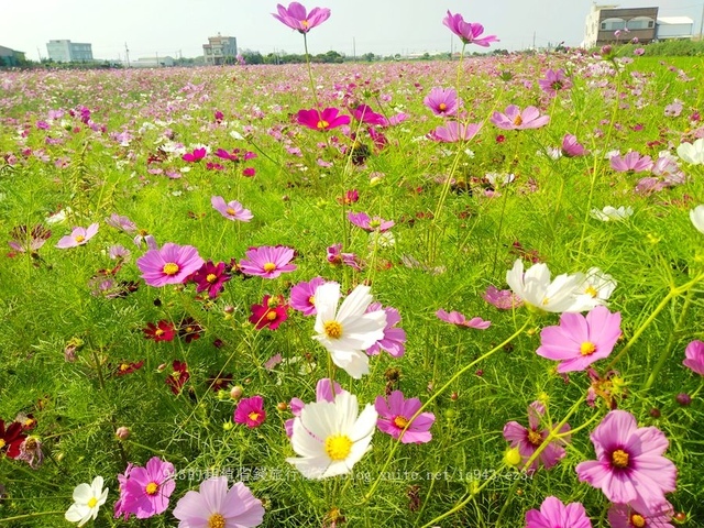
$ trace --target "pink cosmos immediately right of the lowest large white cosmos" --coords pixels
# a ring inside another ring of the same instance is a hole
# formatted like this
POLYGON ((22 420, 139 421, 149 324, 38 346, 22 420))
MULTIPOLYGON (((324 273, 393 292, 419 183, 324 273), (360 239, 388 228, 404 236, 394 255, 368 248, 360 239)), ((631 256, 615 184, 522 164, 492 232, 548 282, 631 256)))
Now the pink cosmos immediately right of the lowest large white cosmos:
POLYGON ((420 407, 420 399, 406 399, 400 391, 394 391, 388 399, 377 396, 374 400, 374 408, 378 413, 376 427, 402 443, 427 443, 432 440, 430 427, 436 421, 436 416, 432 413, 421 413, 414 418, 420 407))

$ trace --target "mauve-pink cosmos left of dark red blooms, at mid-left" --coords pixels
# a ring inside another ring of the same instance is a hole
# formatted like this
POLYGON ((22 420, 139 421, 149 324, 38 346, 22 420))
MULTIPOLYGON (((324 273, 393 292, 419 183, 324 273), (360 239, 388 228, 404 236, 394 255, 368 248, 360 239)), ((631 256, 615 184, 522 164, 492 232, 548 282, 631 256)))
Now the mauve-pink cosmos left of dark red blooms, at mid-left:
POLYGON ((146 284, 162 287, 167 284, 182 284, 205 264, 193 245, 177 245, 170 242, 161 250, 150 250, 136 260, 146 284))

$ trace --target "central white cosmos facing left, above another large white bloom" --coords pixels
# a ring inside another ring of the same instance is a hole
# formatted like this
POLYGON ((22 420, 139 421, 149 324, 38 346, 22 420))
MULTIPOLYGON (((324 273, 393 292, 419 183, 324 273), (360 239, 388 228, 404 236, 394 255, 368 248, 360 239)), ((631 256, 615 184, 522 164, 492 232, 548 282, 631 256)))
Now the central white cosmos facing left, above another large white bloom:
POLYGON ((370 372, 366 349, 384 337, 386 312, 364 311, 372 302, 370 287, 360 285, 348 295, 338 309, 340 285, 326 283, 316 289, 315 330, 312 339, 320 341, 332 362, 350 376, 360 380, 370 372))

